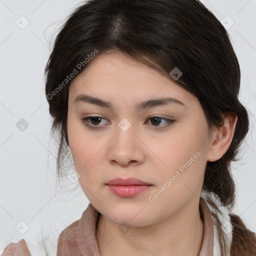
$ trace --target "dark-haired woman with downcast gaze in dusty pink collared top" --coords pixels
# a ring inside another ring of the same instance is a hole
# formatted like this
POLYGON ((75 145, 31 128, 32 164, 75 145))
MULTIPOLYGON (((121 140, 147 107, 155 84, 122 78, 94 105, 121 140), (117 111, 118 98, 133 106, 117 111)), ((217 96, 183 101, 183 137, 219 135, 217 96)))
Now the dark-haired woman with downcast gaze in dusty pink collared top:
MULTIPOLYGON (((229 166, 248 131, 239 64, 206 7, 89 0, 58 33, 45 74, 58 175, 68 148, 90 201, 57 256, 256 255, 231 212, 229 166)), ((3 256, 17 253, 29 255, 23 239, 3 256)))

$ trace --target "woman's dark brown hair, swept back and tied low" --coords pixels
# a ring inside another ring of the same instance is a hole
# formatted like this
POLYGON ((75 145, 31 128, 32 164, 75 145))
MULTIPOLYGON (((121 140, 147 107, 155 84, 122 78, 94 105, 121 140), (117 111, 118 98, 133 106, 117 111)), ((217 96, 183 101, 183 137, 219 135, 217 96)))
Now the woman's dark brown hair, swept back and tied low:
MULTIPOLYGON (((75 8, 57 34, 45 68, 45 93, 53 117, 51 132, 59 135, 58 176, 68 148, 69 81, 65 79, 74 68, 77 73, 86 68, 84 60, 95 49, 98 54, 118 50, 185 88, 200 101, 209 128, 222 125, 221 113, 231 111, 237 115, 228 150, 219 160, 207 162, 203 182, 203 189, 213 192, 221 205, 232 209, 235 185, 230 162, 237 160, 249 119, 238 100, 238 60, 220 21, 198 0, 89 0, 75 8), (83 65, 77 68, 78 63, 83 65), (169 74, 174 67, 182 71, 178 80, 169 74)), ((209 202, 217 209, 212 200, 209 202)), ((230 217, 234 227, 231 255, 255 255, 255 234, 239 216, 230 217)), ((226 245, 220 222, 218 232, 224 256, 226 245)))

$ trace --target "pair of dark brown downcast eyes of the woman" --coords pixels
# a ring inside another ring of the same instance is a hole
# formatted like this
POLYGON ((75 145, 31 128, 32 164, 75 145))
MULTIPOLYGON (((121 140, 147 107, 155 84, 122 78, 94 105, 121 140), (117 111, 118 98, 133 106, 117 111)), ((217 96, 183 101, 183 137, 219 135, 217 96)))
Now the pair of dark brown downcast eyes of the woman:
MULTIPOLYGON (((101 126, 98 125, 98 123, 102 119, 105 119, 105 118, 100 117, 100 116, 88 116, 88 117, 81 118, 81 122, 88 128, 98 129, 98 128, 102 128, 102 126, 104 126, 104 125, 101 125, 101 126), (90 120, 90 123, 92 123, 92 124, 90 124, 88 120, 90 120)), ((162 117, 162 116, 152 116, 152 117, 149 117, 147 120, 153 120, 153 122, 151 121, 151 123, 156 123, 156 124, 161 123, 161 120, 164 120, 167 122, 167 125, 161 125, 160 128, 156 128, 156 129, 164 128, 174 121, 174 120, 162 117)), ((155 125, 152 125, 152 126, 155 126, 155 125)), ((159 125, 157 125, 157 126, 159 126, 159 125)))

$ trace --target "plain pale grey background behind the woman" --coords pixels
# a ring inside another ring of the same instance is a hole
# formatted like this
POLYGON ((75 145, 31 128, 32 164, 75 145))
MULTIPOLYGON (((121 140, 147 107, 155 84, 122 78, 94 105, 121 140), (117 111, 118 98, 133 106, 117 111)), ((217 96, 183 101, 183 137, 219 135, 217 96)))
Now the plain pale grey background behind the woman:
MULTIPOLYGON (((240 63, 239 99, 252 118, 242 159, 232 164, 237 188, 233 211, 256 232, 256 1, 202 2, 225 23, 240 63)), ((51 119, 43 77, 50 36, 54 39, 79 3, 0 0, 0 253, 8 243, 24 238, 32 255, 44 255, 43 237, 48 253, 55 255, 60 231, 79 219, 88 205, 80 187, 72 191, 78 181, 66 179, 56 186, 56 142, 49 140, 51 119)))

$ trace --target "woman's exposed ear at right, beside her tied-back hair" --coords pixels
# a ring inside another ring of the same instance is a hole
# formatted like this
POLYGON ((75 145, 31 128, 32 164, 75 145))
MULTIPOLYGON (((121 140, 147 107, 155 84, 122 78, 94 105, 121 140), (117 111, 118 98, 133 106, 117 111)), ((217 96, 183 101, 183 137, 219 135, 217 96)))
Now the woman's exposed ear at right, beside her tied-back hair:
POLYGON ((237 115, 234 112, 228 111, 221 115, 224 118, 223 125, 213 131, 208 147, 207 160, 211 162, 220 159, 227 151, 237 122, 237 115))

